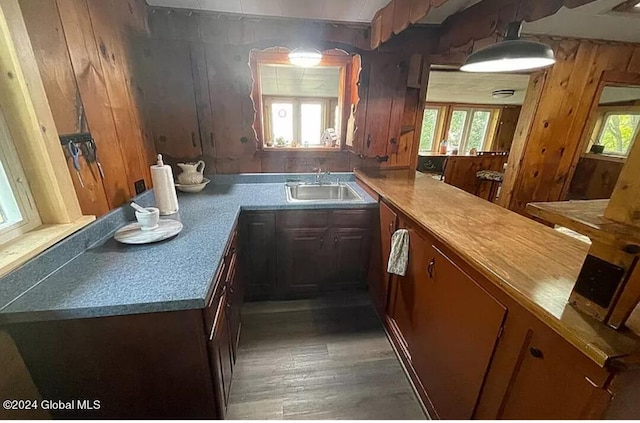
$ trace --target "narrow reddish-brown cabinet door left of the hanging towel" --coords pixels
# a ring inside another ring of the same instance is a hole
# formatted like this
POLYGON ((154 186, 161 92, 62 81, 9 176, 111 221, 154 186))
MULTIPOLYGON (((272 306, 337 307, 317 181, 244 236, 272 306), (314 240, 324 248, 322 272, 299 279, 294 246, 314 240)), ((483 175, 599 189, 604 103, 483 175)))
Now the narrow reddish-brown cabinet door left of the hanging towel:
POLYGON ((391 210, 385 203, 380 202, 380 264, 381 271, 378 272, 378 278, 372 278, 369 283, 369 291, 373 298, 373 302, 378 309, 380 316, 384 316, 387 308, 387 297, 389 295, 389 279, 387 273, 387 262, 391 253, 391 236, 398 227, 398 215, 391 210))

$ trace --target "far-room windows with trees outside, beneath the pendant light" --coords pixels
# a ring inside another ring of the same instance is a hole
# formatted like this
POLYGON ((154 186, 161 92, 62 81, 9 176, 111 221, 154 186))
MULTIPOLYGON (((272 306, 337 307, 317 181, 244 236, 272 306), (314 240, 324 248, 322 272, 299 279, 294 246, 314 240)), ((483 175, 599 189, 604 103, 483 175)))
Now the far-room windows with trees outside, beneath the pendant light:
POLYGON ((485 150, 490 147, 494 118, 499 113, 500 109, 491 107, 428 105, 424 110, 419 152, 437 151, 442 140, 447 140, 448 153, 458 150, 458 154, 469 154, 474 148, 485 150))

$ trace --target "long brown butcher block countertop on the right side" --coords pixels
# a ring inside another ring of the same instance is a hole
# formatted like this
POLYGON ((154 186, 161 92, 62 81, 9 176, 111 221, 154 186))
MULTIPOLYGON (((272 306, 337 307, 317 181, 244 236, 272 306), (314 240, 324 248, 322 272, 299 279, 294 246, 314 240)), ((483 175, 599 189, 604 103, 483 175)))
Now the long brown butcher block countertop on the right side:
POLYGON ((589 246, 415 171, 356 171, 376 191, 601 367, 640 337, 568 304, 589 246))

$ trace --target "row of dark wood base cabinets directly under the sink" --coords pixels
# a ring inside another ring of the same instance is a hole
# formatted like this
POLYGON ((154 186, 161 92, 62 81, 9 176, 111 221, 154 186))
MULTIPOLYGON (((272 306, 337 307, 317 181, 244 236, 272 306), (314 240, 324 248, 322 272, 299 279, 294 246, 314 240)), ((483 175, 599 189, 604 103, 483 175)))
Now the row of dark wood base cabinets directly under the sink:
POLYGON ((240 217, 246 298, 303 298, 364 285, 369 209, 250 212, 240 217))

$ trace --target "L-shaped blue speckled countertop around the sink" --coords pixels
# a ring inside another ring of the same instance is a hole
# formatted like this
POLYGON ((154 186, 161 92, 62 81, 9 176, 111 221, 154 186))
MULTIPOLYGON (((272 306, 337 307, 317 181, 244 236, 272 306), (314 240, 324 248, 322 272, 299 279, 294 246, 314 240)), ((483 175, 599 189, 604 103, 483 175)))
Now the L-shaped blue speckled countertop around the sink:
MULTIPOLYGON (((198 194, 179 193, 184 229, 173 239, 123 245, 109 234, 0 309, 0 323, 103 317, 205 306, 212 279, 241 210, 345 209, 377 207, 353 202, 288 203, 284 181, 254 176, 262 183, 212 183, 198 194)), ((117 229, 117 228, 115 228, 117 229)), ((115 230, 114 229, 114 230, 115 230)))

